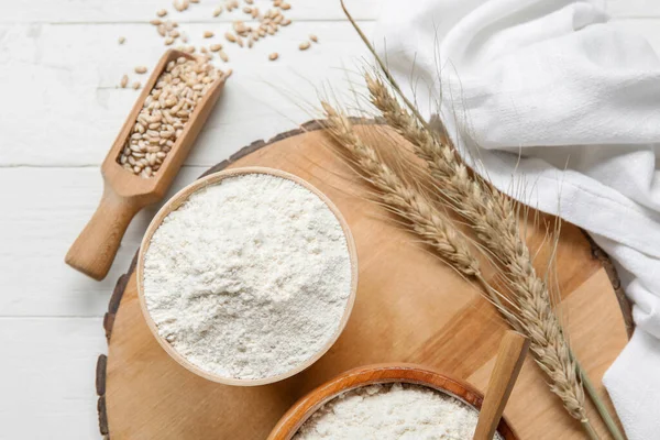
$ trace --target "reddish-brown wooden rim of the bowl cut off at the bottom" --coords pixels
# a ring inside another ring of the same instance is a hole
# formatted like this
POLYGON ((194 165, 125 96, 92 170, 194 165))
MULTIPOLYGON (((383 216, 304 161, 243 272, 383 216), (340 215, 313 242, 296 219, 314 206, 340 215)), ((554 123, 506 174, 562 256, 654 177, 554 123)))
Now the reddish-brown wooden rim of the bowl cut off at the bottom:
MULTIPOLYGON (((361 366, 340 374, 300 398, 282 416, 267 440, 290 440, 314 413, 342 393, 366 385, 393 382, 428 386, 457 397, 476 409, 481 408, 484 399, 472 385, 421 365, 398 363, 361 366)), ((499 421, 497 432, 505 440, 518 439, 504 417, 499 421)))

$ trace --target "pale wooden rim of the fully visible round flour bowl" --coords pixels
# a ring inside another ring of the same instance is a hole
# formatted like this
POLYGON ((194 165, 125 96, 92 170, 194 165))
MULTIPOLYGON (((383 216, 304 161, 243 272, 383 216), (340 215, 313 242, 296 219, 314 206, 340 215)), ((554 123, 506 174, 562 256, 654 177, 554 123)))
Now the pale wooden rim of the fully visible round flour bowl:
POLYGON ((355 290, 358 289, 358 252, 355 251, 355 242, 353 241, 353 235, 351 234, 349 224, 346 223, 346 221, 340 213, 339 209, 334 206, 334 204, 332 204, 332 201, 330 201, 330 199, 326 195, 323 195, 317 188, 311 186, 309 183, 302 180, 301 178, 299 178, 297 176, 294 176, 293 174, 288 174, 288 173, 285 173, 285 172, 278 170, 278 169, 273 169, 273 168, 245 167, 245 168, 229 169, 229 170, 224 170, 221 173, 216 173, 216 174, 206 176, 206 177, 188 185, 187 187, 185 187, 184 189, 178 191, 169 201, 167 201, 167 204, 165 204, 163 206, 163 208, 161 208, 161 210, 156 213, 156 216, 152 220, 151 224, 148 226, 146 233, 144 234, 144 239, 142 240, 142 245, 140 246, 140 253, 138 255, 136 272, 138 272, 138 295, 140 297, 140 307, 142 309, 142 315, 144 316, 144 319, 146 320, 146 324, 148 326, 151 332, 156 338, 156 341, 158 341, 161 346, 163 346, 163 349, 167 352, 167 354, 169 354, 172 356, 172 359, 174 359, 177 363, 179 363, 187 370, 191 371, 193 373, 195 373, 201 377, 205 377, 209 381, 218 382, 218 383, 226 384, 226 385, 255 386, 255 385, 272 384, 274 382, 285 380, 287 377, 290 377, 290 376, 301 372, 302 370, 307 369, 309 365, 314 364, 317 360, 319 360, 319 358, 321 358, 330 349, 330 346, 332 346, 334 341, 337 341, 337 339, 343 331, 343 329, 349 320, 351 310, 353 309, 353 304, 355 302, 355 290), (162 338, 158 334, 158 328, 157 328, 156 323, 153 321, 153 319, 148 312, 148 309, 146 307, 146 301, 144 298, 144 255, 148 251, 151 239, 152 239, 154 232, 158 229, 158 227, 161 226, 161 223, 163 222, 165 217, 167 217, 167 215, 169 215, 169 212, 178 209, 178 207, 180 207, 182 204, 184 204, 193 193, 196 193, 208 186, 216 185, 219 182, 221 182, 222 179, 226 179, 228 177, 245 175, 245 174, 267 174, 271 176, 282 177, 282 178, 285 178, 288 180, 293 180, 294 183, 307 188, 308 190, 310 190, 311 193, 317 195, 326 204, 326 206, 328 206, 328 208, 332 211, 332 213, 334 213, 334 217, 341 224, 344 237, 346 238, 346 246, 349 249, 349 257, 351 261, 350 295, 346 300, 346 308, 343 312, 343 316, 341 318, 341 321, 340 321, 339 327, 337 328, 334 334, 326 342, 326 344, 312 358, 310 358, 306 362, 301 363, 297 367, 289 370, 286 373, 282 373, 282 374, 271 376, 271 377, 258 378, 258 380, 242 380, 242 378, 235 378, 235 377, 224 377, 224 376, 220 376, 220 375, 204 371, 204 370, 199 369, 198 366, 194 365, 193 363, 190 363, 187 359, 185 359, 182 354, 179 354, 169 344, 169 342, 167 342, 167 340, 165 340, 164 338, 162 338))

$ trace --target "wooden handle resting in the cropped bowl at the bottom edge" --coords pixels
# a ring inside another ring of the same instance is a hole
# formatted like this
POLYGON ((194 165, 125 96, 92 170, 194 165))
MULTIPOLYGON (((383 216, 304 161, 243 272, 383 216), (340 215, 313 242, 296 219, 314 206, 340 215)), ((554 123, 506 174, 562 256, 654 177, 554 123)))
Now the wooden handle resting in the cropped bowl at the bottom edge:
POLYGON ((479 413, 474 440, 493 439, 528 349, 529 340, 522 334, 512 330, 504 334, 488 381, 488 389, 479 413))

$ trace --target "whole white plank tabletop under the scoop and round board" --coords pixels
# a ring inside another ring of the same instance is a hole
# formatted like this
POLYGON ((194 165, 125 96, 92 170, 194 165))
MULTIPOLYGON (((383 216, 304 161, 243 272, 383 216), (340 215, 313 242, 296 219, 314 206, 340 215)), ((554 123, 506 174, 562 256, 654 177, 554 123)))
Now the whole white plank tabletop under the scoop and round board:
MULTIPOLYGON (((96 209, 99 165, 138 96, 116 86, 165 48, 148 21, 166 8, 197 44, 204 31, 222 35, 243 15, 213 19, 220 2, 176 13, 169 0, 0 0, 0 439, 98 438, 102 316, 157 207, 135 218, 106 280, 63 258, 96 209)), ((338 0, 289 2, 290 26, 251 51, 228 48, 234 75, 173 190, 241 146, 311 119, 307 108, 324 84, 359 80, 366 53, 338 0), (299 52, 310 33, 319 45, 299 52)), ((381 0, 346 2, 371 32, 381 0)), ((660 50, 660 2, 609 0, 608 9, 660 50)))

